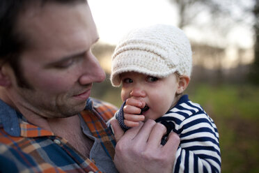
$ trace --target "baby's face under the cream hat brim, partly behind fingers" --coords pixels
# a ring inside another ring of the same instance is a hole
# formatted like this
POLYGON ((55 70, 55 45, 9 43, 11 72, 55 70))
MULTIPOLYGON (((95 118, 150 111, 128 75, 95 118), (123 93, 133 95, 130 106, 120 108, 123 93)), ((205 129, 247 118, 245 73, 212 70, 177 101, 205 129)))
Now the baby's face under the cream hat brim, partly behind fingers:
POLYGON ((136 72, 120 74, 122 80, 121 98, 136 98, 148 105, 149 109, 143 112, 145 121, 157 119, 164 115, 178 101, 175 93, 178 89, 178 80, 175 73, 168 77, 158 78, 136 72))

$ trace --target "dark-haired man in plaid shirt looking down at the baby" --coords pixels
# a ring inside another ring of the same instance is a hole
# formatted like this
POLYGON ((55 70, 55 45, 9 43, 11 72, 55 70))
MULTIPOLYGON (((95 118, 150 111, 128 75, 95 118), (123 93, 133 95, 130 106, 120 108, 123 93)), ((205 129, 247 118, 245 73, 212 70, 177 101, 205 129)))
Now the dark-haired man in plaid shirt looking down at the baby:
POLYGON ((0 172, 172 171, 177 135, 111 121, 113 136, 116 108, 89 99, 105 74, 87 1, 1 0, 0 27, 0 172))

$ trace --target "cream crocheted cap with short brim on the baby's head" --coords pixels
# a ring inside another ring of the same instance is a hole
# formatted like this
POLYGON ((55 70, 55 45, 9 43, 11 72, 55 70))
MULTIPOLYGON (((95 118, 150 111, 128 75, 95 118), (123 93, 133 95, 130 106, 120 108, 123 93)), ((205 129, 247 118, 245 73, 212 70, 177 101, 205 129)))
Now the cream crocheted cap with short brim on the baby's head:
POLYGON ((134 71, 155 77, 167 77, 177 71, 191 75, 191 45, 185 33, 166 24, 130 31, 112 55, 111 84, 120 86, 120 74, 134 71))

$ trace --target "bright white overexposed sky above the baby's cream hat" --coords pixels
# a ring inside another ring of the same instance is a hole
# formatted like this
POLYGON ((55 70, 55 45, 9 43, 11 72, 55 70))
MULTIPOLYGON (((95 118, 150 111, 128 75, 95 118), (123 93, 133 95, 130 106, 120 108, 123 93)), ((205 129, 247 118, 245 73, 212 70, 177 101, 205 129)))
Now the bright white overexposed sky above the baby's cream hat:
MULTIPOLYGON (((88 0, 88 3, 100 40, 104 43, 116 45, 125 33, 136 27, 158 23, 177 27, 178 24, 177 9, 169 0, 88 0)), ((207 38, 202 32, 194 29, 187 28, 185 33, 192 40, 207 38)), ((242 27, 233 29, 228 35, 228 40, 231 44, 244 48, 249 48, 253 44, 251 31, 242 27)))

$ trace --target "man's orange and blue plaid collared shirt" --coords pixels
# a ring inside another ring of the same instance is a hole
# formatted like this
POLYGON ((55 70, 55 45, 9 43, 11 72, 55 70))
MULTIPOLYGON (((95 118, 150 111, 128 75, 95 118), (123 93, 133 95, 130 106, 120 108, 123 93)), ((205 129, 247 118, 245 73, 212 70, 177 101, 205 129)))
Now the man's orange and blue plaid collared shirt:
MULTIPOLYGON (((116 112, 116 107, 91 100, 88 99, 81 117, 112 161, 116 142, 105 122, 116 112)), ((22 114, 0 100, 0 172, 101 171, 95 160, 85 158, 51 131, 28 123, 22 114)))

